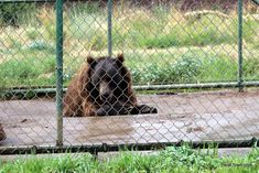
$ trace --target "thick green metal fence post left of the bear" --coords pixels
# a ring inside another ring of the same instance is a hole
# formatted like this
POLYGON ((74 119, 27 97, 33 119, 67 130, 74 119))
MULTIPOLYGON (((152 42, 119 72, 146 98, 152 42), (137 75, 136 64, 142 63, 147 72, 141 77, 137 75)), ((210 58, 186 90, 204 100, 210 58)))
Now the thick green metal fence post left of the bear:
POLYGON ((63 0, 56 0, 56 145, 63 145, 63 0))

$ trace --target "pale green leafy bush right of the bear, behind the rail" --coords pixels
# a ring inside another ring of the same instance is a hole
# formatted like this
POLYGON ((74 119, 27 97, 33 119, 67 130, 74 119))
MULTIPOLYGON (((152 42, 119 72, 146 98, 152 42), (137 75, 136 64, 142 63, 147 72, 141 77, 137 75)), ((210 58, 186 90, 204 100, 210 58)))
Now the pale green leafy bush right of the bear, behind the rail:
POLYGON ((195 56, 185 55, 168 65, 148 64, 142 68, 131 69, 134 83, 192 83, 201 73, 202 62, 195 56))

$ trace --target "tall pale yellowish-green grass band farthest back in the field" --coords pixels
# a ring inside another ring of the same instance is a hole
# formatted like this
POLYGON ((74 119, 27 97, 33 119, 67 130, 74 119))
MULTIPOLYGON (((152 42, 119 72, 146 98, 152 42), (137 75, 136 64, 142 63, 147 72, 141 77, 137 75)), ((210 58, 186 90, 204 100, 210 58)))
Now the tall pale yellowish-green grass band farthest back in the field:
MULTIPOLYGON (((120 9, 118 7, 118 9, 120 9)), ((184 17, 184 12, 173 8, 152 7, 151 9, 123 7, 125 11, 114 12, 112 35, 114 48, 164 48, 171 46, 203 46, 236 44, 237 15, 229 19, 215 14, 197 19, 184 17)), ((36 18, 22 18, 23 40, 39 36, 52 40, 55 37, 55 11, 42 8, 33 11, 36 18), (29 22, 29 23, 28 23, 29 22), (31 25, 31 24, 32 25, 31 25), (36 26, 34 26, 37 23, 36 26), (42 32, 37 32, 37 31, 42 32), (48 36, 47 36, 48 35, 48 36)), ((85 48, 101 51, 107 47, 106 8, 98 3, 78 3, 64 12, 65 42, 76 41, 85 48)), ((256 34, 259 24, 255 18, 244 21, 244 39, 258 46, 256 34)), ((14 31, 15 32, 15 31, 14 31)), ((8 31, 3 32, 11 34, 8 31)), ((54 41, 54 40, 53 40, 54 41)), ((53 42, 52 41, 52 42, 53 42)))

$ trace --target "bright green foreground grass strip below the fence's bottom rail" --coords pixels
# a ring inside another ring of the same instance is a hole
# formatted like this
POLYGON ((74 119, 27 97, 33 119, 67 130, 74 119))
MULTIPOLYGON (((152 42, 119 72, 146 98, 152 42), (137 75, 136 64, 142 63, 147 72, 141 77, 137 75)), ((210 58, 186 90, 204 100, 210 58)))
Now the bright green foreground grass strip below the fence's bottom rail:
POLYGON ((13 162, 0 163, 0 172, 216 172, 257 173, 259 169, 259 150, 244 156, 217 155, 217 149, 208 152, 193 150, 188 147, 170 147, 158 154, 140 154, 132 152, 119 152, 118 155, 105 160, 95 160, 89 154, 60 155, 58 158, 39 159, 31 155, 30 159, 17 159, 13 162))

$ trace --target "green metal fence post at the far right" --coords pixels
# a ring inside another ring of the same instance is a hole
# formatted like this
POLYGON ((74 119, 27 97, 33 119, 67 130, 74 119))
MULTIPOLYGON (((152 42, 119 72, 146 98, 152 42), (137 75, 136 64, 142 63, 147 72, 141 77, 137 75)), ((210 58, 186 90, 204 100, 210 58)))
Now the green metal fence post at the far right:
POLYGON ((242 0, 238 0, 238 88, 242 91, 242 0))

